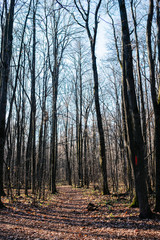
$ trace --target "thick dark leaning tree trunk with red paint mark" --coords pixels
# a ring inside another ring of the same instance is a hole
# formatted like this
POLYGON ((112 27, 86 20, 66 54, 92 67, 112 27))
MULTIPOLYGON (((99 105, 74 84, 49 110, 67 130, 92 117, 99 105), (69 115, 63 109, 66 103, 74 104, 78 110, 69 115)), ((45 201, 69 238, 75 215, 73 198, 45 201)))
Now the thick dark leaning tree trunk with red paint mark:
POLYGON ((130 34, 125 1, 118 0, 118 2, 122 25, 122 89, 127 122, 127 135, 129 140, 129 155, 130 159, 132 160, 134 169, 135 186, 139 201, 140 217, 148 218, 151 217, 151 210, 147 197, 146 176, 144 171, 144 142, 141 131, 140 114, 136 101, 130 34))

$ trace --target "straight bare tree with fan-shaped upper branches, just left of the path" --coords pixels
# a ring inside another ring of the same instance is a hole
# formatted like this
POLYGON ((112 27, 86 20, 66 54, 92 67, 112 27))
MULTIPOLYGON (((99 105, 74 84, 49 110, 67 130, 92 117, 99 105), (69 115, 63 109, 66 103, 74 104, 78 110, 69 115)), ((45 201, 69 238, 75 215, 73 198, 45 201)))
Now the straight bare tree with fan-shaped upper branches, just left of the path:
POLYGON ((63 9, 56 9, 56 1, 53 0, 47 12, 45 1, 45 31, 48 49, 49 71, 52 78, 52 132, 51 132, 51 192, 56 192, 56 165, 57 165, 57 98, 59 85, 59 72, 64 51, 69 41, 70 18, 64 24, 63 9), (50 11, 50 8, 52 11, 50 11), (51 13, 52 12, 52 13, 51 13), (49 15, 51 20, 51 32, 49 32, 49 15), (50 38, 51 36, 51 38, 50 38))

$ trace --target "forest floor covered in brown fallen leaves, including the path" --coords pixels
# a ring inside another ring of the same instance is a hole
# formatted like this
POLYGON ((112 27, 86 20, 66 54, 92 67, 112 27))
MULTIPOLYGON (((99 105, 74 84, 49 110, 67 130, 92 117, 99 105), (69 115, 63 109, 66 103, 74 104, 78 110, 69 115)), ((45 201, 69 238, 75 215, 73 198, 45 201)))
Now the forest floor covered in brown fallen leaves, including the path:
POLYGON ((0 239, 160 239, 160 219, 141 220, 125 197, 59 186, 46 201, 22 195, 3 202, 0 239))

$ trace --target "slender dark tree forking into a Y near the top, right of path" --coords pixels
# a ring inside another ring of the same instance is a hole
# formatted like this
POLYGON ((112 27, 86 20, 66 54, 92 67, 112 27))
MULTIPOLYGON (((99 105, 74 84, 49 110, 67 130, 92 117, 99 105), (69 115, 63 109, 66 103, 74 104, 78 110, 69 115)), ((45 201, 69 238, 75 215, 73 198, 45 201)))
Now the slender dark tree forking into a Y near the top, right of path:
POLYGON ((102 186, 103 186, 103 194, 109 194, 109 188, 108 188, 108 182, 107 182, 107 169, 106 169, 105 138, 104 138, 104 130, 103 130, 101 108, 100 108, 100 101, 99 101, 98 70, 97 70, 97 62, 96 62, 96 54, 95 54, 97 29, 98 29, 98 12, 101 6, 101 2, 102 1, 100 0, 95 5, 93 33, 91 32, 90 25, 89 25, 90 14, 91 14, 90 13, 91 2, 88 1, 86 10, 81 1, 78 2, 75 0, 74 4, 81 18, 84 21, 84 23, 82 24, 79 22, 79 25, 81 25, 86 29, 88 39, 90 42, 91 56, 92 56, 92 70, 93 70, 93 79, 94 79, 95 109, 96 109, 96 115, 97 115, 97 125, 98 125, 99 140, 100 140, 100 165, 102 170, 102 186))

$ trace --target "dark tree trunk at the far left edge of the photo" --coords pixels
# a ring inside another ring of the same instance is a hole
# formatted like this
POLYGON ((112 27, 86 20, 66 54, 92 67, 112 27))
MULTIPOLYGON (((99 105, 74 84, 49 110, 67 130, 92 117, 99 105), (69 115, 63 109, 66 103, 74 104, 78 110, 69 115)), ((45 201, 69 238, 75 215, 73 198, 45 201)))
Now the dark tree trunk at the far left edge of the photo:
MULTIPOLYGON (((4 4, 5 5, 5 4, 4 4)), ((1 38, 1 62, 0 62, 0 207, 1 196, 4 196, 3 189, 3 162, 4 162, 4 145, 5 145, 5 121, 7 105, 7 86, 10 74, 10 61, 12 56, 12 39, 13 39, 13 21, 14 21, 15 0, 10 1, 9 12, 5 9, 4 25, 2 23, 1 38)), ((5 6, 3 6, 5 7, 5 6)))

